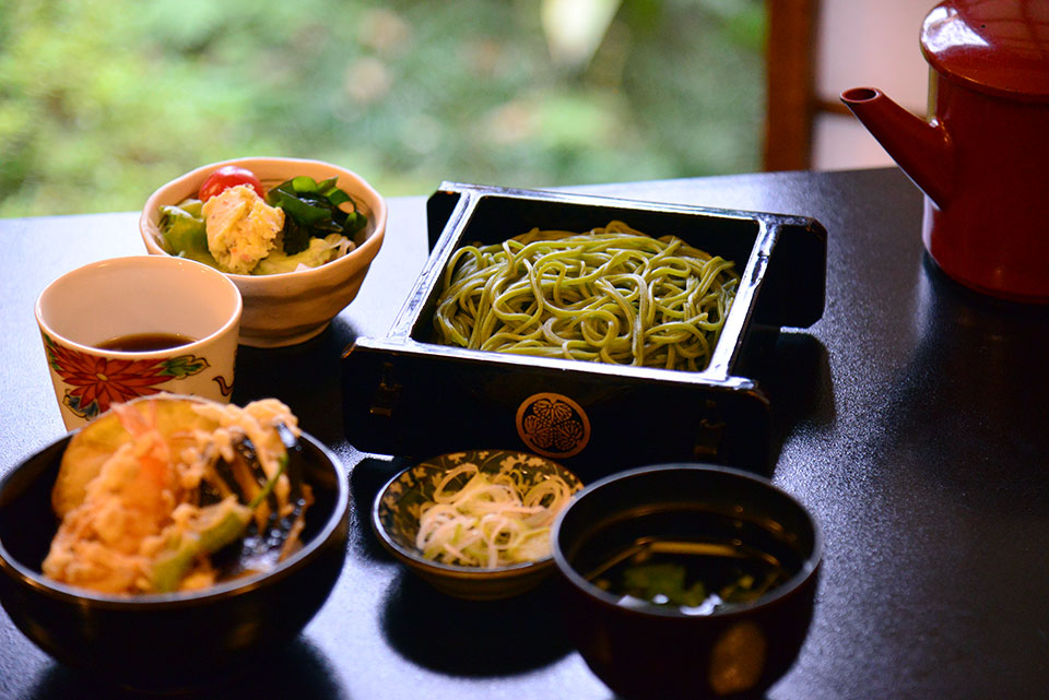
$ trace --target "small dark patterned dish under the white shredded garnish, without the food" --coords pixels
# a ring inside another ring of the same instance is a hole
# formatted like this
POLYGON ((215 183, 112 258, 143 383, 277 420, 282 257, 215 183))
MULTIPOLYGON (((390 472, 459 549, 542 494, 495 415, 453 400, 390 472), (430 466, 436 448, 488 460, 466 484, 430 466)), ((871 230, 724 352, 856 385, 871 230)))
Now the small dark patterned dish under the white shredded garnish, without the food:
POLYGON ((410 466, 390 479, 375 499, 372 525, 379 542, 394 558, 443 593, 476 601, 518 595, 538 585, 553 571, 550 555, 534 561, 487 569, 434 561, 425 558, 415 546, 423 503, 433 500, 436 486, 450 470, 471 462, 487 475, 517 470, 529 486, 559 476, 570 493, 582 488, 576 475, 561 464, 528 452, 453 452, 410 466))

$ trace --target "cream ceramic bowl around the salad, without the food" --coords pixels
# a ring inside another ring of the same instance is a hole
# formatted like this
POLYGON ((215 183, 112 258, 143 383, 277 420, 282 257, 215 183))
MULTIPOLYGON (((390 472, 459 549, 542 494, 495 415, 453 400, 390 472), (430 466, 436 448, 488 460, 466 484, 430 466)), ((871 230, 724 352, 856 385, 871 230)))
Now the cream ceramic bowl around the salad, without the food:
POLYGON ((275 187, 298 175, 316 180, 338 176, 339 187, 367 215, 360 237, 365 240, 349 254, 319 268, 272 275, 227 274, 244 297, 240 344, 252 347, 293 345, 323 331, 361 288, 372 260, 382 246, 386 233, 386 201, 360 175, 330 163, 303 158, 236 158, 191 170, 157 189, 145 202, 139 232, 152 254, 167 256, 160 242, 160 207, 196 197, 208 176, 225 166, 248 168, 267 187, 275 187))

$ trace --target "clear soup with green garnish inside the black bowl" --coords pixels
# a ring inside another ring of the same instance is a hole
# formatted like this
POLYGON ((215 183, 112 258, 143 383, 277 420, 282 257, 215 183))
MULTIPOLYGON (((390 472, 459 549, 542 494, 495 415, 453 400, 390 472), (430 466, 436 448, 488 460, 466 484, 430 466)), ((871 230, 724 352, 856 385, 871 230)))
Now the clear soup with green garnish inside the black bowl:
POLYGON ((775 591, 803 557, 775 523, 684 509, 603 524, 573 566, 620 605, 709 615, 775 591))

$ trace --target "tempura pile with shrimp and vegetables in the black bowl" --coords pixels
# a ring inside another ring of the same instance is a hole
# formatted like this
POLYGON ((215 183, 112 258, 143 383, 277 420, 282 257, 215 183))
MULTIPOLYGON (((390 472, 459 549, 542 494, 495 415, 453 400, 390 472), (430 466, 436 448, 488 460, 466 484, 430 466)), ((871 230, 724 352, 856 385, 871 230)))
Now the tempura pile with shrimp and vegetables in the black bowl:
POLYGON ((157 394, 72 437, 51 505, 44 574, 102 593, 166 593, 264 571, 299 547, 313 502, 297 419, 280 401, 240 408, 157 394))

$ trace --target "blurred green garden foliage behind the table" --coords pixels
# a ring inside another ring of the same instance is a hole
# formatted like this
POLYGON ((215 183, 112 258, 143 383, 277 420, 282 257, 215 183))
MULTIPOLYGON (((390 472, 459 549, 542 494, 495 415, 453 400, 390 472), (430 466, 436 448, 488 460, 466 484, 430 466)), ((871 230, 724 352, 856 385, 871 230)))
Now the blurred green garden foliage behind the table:
POLYGON ((387 195, 756 169, 764 3, 616 4, 569 64, 535 0, 0 0, 0 216, 138 210, 246 155, 387 195))

